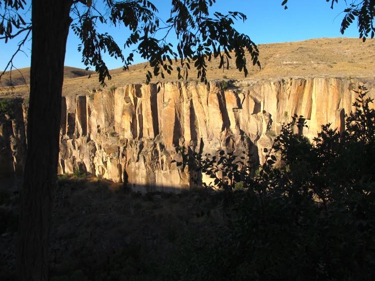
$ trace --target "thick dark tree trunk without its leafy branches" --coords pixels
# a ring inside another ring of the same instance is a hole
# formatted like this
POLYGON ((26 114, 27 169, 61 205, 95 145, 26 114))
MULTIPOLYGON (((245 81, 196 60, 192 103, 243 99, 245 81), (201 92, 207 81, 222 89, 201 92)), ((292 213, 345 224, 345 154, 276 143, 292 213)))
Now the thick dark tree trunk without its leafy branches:
POLYGON ((61 92, 72 0, 32 0, 27 154, 18 229, 22 281, 48 280, 48 249, 59 153, 61 92))

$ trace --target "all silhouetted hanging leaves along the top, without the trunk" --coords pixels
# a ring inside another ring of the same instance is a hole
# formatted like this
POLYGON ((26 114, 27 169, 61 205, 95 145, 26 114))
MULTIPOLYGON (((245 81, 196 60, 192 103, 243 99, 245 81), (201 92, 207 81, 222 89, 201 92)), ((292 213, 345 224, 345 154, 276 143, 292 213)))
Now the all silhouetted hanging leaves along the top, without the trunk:
MULTIPOLYGON (((326 0, 334 3, 338 0, 326 0)), ((99 82, 106 85, 105 79, 111 79, 108 67, 103 59, 103 54, 108 52, 110 56, 120 59, 124 63, 124 70, 128 69, 133 62, 134 53, 138 52, 142 58, 150 63, 152 71, 147 71, 146 83, 153 77, 164 77, 164 74, 171 74, 176 67, 178 79, 188 80, 188 73, 193 64, 198 71, 197 78, 207 82, 207 61, 212 56, 220 57, 219 68, 229 69, 230 52, 234 53, 237 69, 244 71, 245 77, 248 74, 246 67, 246 53, 252 63, 260 67, 258 60, 259 51, 257 46, 245 34, 237 32, 233 28, 234 20, 247 20, 246 15, 241 12, 228 12, 223 15, 215 12, 210 17, 209 7, 216 3, 216 0, 186 0, 172 1, 171 17, 161 19, 157 16, 157 7, 152 1, 146 0, 104 0, 105 7, 99 9, 99 5, 91 0, 73 1, 71 8, 74 33, 81 40, 78 50, 82 52, 82 62, 89 69, 95 68, 99 74, 99 82), (100 25, 113 24, 124 26, 131 31, 126 39, 124 48, 115 42, 113 37, 98 32, 100 25), (175 47, 166 41, 171 31, 176 32, 178 43, 175 47), (161 34, 160 36, 157 36, 161 34), (131 46, 135 48, 128 50, 131 46), (178 60, 180 63, 178 64, 178 60)), ((287 9, 288 0, 282 5, 287 9)), ((8 40, 24 35, 18 44, 18 48, 11 57, 9 63, 0 74, 4 75, 9 67, 13 68, 13 58, 18 52, 22 52, 22 46, 31 33, 32 23, 25 17, 29 3, 25 0, 2 0, 0 1, 0 39, 8 40)), ((367 37, 374 37, 375 27, 373 26, 373 14, 375 4, 373 1, 358 1, 348 5, 344 10, 345 16, 342 21, 340 32, 345 30, 357 18, 359 37, 363 41, 367 37)))

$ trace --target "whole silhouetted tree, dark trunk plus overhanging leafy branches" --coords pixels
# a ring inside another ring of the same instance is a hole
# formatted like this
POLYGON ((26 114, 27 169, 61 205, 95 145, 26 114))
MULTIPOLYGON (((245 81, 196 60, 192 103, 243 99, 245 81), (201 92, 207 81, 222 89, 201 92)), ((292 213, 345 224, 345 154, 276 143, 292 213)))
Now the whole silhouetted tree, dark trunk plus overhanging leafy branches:
MULTIPOLYGON (((332 3, 334 1, 337 2, 332 0, 332 3)), ((215 13, 215 18, 210 18, 209 7, 214 3, 215 0, 173 0, 171 17, 163 21, 156 15, 157 9, 152 2, 146 0, 103 0, 101 8, 98 1, 92 0, 31 0, 31 4, 25 0, 0 0, 0 39, 7 42, 23 36, 5 71, 13 67, 14 56, 32 35, 28 148, 17 250, 21 280, 48 279, 48 236, 56 183, 63 65, 69 28, 72 26, 82 41, 79 47, 82 61, 86 66, 95 67, 102 85, 105 85, 106 78, 111 78, 103 52, 121 59, 126 69, 133 60, 134 51, 125 56, 109 34, 97 31, 98 22, 124 25, 131 30, 125 48, 136 45, 135 51, 153 67, 153 73, 146 75, 147 83, 153 76, 163 77, 164 73, 171 73, 173 59, 179 59, 181 63, 177 68, 179 79, 188 78, 188 69, 193 63, 198 78, 207 82, 206 61, 212 55, 219 56, 219 67, 223 67, 231 51, 236 56, 236 67, 246 76, 246 52, 253 64, 260 65, 256 45, 232 27, 233 19, 246 20, 246 16, 229 12, 228 15, 215 13), (28 8, 31 8, 31 19, 24 19, 21 12, 28 8), (157 39, 161 30, 165 32, 157 39), (166 42, 165 34, 170 31, 177 34, 177 53, 166 42)), ((286 3, 287 0, 283 5, 286 3)), ((373 31, 375 4, 372 1, 359 3, 348 11, 346 21, 358 17, 360 34, 366 37, 368 26, 373 31)))

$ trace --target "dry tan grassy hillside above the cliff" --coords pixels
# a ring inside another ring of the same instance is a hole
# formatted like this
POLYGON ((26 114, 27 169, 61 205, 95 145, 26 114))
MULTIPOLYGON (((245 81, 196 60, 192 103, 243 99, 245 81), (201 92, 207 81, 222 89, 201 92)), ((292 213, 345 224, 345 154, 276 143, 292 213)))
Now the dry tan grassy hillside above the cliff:
MULTIPOLYGON (((299 42, 258 45, 262 64, 260 70, 248 61, 249 75, 247 80, 263 80, 287 77, 315 77, 315 76, 353 76, 375 77, 375 40, 362 42, 356 38, 322 38, 299 42)), ((233 56, 234 58, 234 56, 233 56)), ((112 80, 107 82, 108 87, 119 87, 129 83, 143 83, 146 80, 147 63, 130 66, 129 71, 123 72, 122 68, 111 71, 112 80), (145 68, 146 66, 146 68, 145 68)), ((229 61, 229 69, 218 69, 219 60, 213 59, 208 63, 208 79, 245 79, 244 74, 237 71, 234 59, 229 61)), ((28 82, 29 68, 20 69, 28 82)), ((20 76, 20 75, 19 75, 20 76)), ((189 81, 196 79, 196 73, 191 70, 189 81)), ((65 66, 63 95, 87 94, 91 89, 100 88, 97 74, 87 79, 88 72, 84 69, 65 66)), ((0 95, 27 96, 28 87, 24 81, 19 83, 16 72, 12 74, 14 84, 19 85, 11 89, 10 85, 0 85, 0 95)), ((176 81, 177 72, 171 76, 166 75, 162 82, 176 81)), ((5 80, 4 80, 5 81, 5 80)), ((159 81, 159 78, 153 80, 159 81)))

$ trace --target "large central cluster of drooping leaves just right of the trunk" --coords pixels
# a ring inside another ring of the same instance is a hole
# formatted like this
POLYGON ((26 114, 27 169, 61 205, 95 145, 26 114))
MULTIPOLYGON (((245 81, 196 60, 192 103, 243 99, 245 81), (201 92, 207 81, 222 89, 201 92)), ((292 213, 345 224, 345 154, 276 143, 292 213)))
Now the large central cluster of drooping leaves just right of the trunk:
POLYGON ((171 17, 165 21, 157 17, 158 10, 150 1, 108 0, 106 4, 110 12, 107 17, 86 3, 84 13, 79 13, 78 8, 74 10, 79 16, 79 21, 72 24, 73 31, 82 41, 78 47, 83 55, 82 61, 88 67, 95 66, 95 71, 99 73, 99 81, 103 85, 105 78, 111 79, 111 76, 103 61, 102 52, 109 52, 111 56, 121 59, 124 62, 124 70, 132 63, 133 53, 140 53, 153 68, 152 72, 147 71, 146 83, 149 83, 153 76, 160 75, 163 78, 164 73, 171 74, 173 67, 177 67, 178 79, 187 80, 191 63, 198 70, 197 78, 207 82, 206 60, 210 61, 212 55, 215 58, 219 56, 221 68, 224 67, 224 61, 228 62, 231 58, 229 52, 233 51, 237 68, 244 71, 247 76, 245 53, 249 53, 254 65, 260 66, 258 49, 248 36, 238 33, 232 27, 233 20, 245 21, 246 16, 240 12, 229 12, 228 15, 214 13, 215 19, 210 18, 209 7, 215 2, 173 1, 171 17), (109 34, 97 32, 98 20, 101 24, 111 23, 129 28, 131 34, 126 39, 124 47, 127 49, 137 45, 137 48, 125 57, 109 34), (176 32, 179 40, 177 52, 171 43, 166 42, 166 37, 172 30, 176 32), (158 39, 156 34, 161 31, 163 35, 158 39), (177 65, 178 60, 180 65, 177 65))

